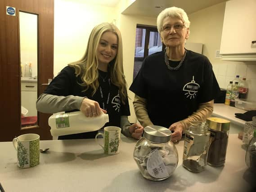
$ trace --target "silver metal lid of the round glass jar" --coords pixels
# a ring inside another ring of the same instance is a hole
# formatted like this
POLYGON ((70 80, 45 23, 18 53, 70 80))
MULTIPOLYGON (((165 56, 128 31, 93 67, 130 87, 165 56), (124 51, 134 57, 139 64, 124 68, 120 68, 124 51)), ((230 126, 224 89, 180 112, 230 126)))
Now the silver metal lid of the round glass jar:
POLYGON ((143 136, 155 143, 166 143, 171 140, 171 131, 165 127, 151 125, 144 128, 143 136))

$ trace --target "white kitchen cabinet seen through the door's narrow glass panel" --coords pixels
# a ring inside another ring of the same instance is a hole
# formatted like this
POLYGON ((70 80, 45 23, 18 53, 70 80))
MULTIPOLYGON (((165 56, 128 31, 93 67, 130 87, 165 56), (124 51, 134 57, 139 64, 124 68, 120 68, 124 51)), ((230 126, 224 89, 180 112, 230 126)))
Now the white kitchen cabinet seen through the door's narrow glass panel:
POLYGON ((21 82, 21 105, 28 110, 27 116, 37 116, 37 81, 21 82))

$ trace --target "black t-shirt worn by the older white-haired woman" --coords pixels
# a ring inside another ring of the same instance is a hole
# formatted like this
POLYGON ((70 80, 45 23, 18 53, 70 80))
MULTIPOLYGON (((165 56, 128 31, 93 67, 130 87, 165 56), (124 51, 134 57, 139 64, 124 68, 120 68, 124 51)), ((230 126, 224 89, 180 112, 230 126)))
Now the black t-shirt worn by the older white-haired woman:
POLYGON ((130 90, 147 99, 148 116, 154 125, 169 128, 196 112, 199 103, 216 98, 220 87, 208 58, 188 50, 177 71, 167 68, 164 52, 149 55, 130 90))

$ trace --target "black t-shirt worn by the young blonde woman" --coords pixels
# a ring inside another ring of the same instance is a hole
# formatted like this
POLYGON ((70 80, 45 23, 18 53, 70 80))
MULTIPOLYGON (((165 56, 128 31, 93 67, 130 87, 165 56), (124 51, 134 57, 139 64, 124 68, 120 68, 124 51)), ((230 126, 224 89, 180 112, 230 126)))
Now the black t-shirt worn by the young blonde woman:
MULTIPOLYGON (((121 103, 119 89, 116 85, 113 85, 110 81, 109 73, 98 70, 99 72, 99 88, 96 93, 91 96, 92 90, 85 90, 82 83, 81 76, 76 76, 75 69, 73 67, 65 67, 56 76, 50 85, 45 90, 45 94, 53 94, 58 96, 80 96, 87 97, 94 101, 97 101, 101 108, 107 110, 109 116, 109 122, 105 126, 118 126, 120 127, 121 116, 130 116, 130 107, 128 98, 126 104, 121 103), (102 93, 102 96, 101 96, 102 93), (108 96, 109 95, 109 96, 108 96), (104 105, 104 107, 103 107, 104 105)), ((78 110, 75 110, 78 111, 78 110)), ((94 138, 97 131, 87 132, 81 134, 72 134, 59 136, 59 139, 74 139, 74 138, 94 138)))

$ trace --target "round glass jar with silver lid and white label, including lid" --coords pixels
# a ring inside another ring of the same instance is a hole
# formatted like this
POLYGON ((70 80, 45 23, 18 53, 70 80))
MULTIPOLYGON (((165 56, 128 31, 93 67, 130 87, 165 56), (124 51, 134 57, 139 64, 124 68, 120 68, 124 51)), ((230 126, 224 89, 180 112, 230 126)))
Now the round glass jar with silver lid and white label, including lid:
POLYGON ((152 125, 144 128, 143 137, 135 145, 134 160, 146 179, 167 179, 178 165, 178 152, 171 142, 171 131, 152 125))

